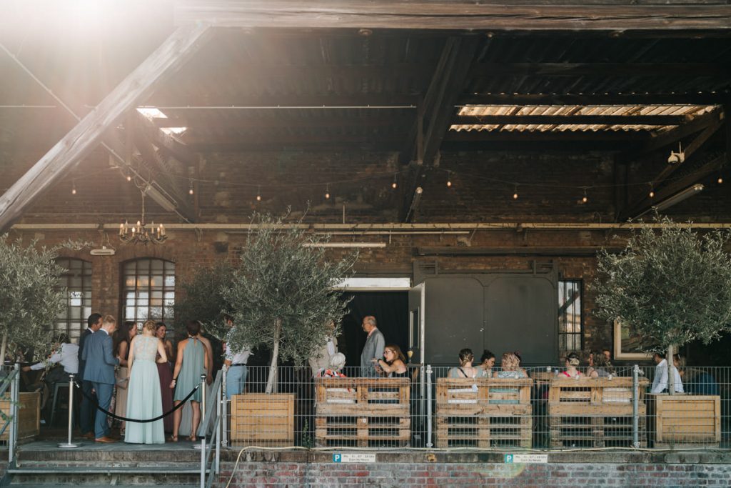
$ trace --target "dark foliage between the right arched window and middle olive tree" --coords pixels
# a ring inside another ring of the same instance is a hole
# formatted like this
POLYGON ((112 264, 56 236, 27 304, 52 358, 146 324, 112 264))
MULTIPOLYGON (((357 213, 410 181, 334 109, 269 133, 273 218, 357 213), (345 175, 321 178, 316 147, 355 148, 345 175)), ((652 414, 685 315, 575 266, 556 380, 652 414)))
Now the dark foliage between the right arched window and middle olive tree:
POLYGON ((224 299, 224 288, 231 285, 233 269, 228 260, 220 260, 213 266, 194 269, 190 279, 181 283, 183 296, 174 307, 178 334, 185 334, 188 320, 200 320, 207 334, 224 339, 228 329, 223 313, 230 308, 224 299))

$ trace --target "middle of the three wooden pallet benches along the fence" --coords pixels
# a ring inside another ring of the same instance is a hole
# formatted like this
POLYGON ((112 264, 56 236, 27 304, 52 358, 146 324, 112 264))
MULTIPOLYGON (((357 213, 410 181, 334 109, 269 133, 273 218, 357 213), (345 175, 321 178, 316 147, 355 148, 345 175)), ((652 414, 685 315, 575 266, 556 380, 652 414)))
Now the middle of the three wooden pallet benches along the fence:
POLYGON ((530 378, 436 380, 436 446, 531 447, 530 378))

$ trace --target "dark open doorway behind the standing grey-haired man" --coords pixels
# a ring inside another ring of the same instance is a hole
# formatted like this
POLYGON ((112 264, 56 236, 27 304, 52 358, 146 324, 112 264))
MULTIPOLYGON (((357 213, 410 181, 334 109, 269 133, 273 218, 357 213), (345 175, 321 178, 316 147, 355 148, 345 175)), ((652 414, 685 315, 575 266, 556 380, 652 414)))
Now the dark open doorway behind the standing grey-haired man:
POLYGON ((353 299, 350 312, 343 318, 338 350, 345 354, 346 366, 360 366, 360 351, 366 344, 366 333, 360 328, 363 317, 373 315, 386 343, 395 342, 404 351, 409 345, 409 292, 355 291, 346 293, 353 299))

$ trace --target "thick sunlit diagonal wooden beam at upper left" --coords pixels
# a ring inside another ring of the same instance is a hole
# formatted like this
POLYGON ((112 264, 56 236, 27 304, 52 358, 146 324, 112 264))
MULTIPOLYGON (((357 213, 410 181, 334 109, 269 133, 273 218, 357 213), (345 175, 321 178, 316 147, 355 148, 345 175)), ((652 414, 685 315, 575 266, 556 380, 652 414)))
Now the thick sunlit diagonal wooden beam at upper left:
POLYGON ((127 110, 154 91, 159 80, 185 63, 209 31, 205 24, 176 29, 99 103, 96 110, 88 113, 21 176, 0 198, 0 233, 10 228, 42 192, 86 157, 127 110))

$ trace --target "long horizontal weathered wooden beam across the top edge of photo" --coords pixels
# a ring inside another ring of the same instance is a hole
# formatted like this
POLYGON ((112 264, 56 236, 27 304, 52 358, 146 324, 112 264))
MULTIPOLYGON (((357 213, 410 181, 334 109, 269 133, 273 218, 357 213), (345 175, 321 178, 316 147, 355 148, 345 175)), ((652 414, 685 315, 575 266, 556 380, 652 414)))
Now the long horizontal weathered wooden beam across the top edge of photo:
POLYGON ((638 5, 557 0, 510 4, 500 1, 416 0, 189 0, 175 6, 178 24, 272 29, 431 29, 447 31, 727 30, 726 4, 638 5))

